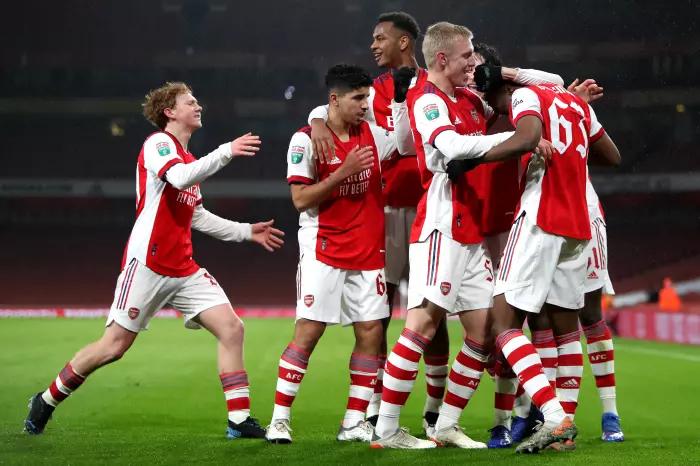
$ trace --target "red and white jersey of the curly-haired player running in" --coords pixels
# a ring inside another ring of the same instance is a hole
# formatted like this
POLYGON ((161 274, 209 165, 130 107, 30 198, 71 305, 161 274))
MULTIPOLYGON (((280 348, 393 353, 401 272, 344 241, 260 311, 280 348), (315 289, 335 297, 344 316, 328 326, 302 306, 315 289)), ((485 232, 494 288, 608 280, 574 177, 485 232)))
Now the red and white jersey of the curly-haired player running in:
POLYGON ((185 190, 165 180, 178 163, 197 160, 167 132, 148 137, 136 166, 136 222, 124 249, 122 269, 136 259, 156 273, 185 277, 199 270, 192 259, 192 214, 201 204, 199 185, 185 190))

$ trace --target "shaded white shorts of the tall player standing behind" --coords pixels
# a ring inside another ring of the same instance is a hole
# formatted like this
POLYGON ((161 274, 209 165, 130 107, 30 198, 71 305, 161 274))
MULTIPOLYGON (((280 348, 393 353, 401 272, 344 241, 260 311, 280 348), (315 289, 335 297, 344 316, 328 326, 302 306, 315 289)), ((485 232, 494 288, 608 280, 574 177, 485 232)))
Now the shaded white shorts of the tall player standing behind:
POLYGON ((387 283, 398 285, 408 277, 408 245, 411 227, 416 218, 412 207, 384 207, 386 265, 384 272, 387 283))

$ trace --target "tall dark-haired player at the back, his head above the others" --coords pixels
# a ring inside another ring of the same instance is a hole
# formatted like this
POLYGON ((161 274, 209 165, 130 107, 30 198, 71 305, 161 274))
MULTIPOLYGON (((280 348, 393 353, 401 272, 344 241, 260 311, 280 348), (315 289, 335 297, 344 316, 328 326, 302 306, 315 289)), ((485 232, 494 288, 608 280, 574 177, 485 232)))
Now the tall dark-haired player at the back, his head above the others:
MULTIPOLYGON (((407 93, 420 88, 427 78, 427 71, 418 66, 415 56, 416 41, 420 28, 416 20, 408 13, 388 12, 379 15, 372 33, 370 50, 381 68, 387 71, 377 77, 370 88, 366 120, 375 122, 387 131, 394 131, 391 116, 392 100, 403 102, 407 93), (401 69, 400 72, 397 70, 401 69), (406 73, 408 69, 413 73, 406 73), (396 82, 398 79, 400 82, 396 82), (411 89, 409 90, 409 86, 411 89)), ((314 153, 320 158, 332 157, 333 137, 325 119, 328 112, 325 107, 318 107, 309 116, 311 140, 314 153)), ((410 128, 407 128, 410 131, 410 128)), ((415 154, 415 149, 411 150, 415 154)), ((330 158, 329 158, 330 160, 330 158)), ((411 226, 416 216, 416 206, 423 195, 423 186, 415 157, 391 157, 382 162, 382 181, 384 192, 384 219, 386 244, 386 285, 389 306, 394 302, 394 295, 402 278, 408 276, 408 244, 411 226)), ((377 423, 379 403, 382 394, 382 379, 386 363, 386 331, 390 316, 382 321, 384 337, 379 356, 379 372, 374 395, 367 408, 367 419, 377 423)), ((447 325, 441 321, 435 337, 425 350, 425 377, 427 396, 423 407, 423 427, 432 429, 438 417, 438 410, 445 394, 445 381, 448 371, 449 338, 447 325)))

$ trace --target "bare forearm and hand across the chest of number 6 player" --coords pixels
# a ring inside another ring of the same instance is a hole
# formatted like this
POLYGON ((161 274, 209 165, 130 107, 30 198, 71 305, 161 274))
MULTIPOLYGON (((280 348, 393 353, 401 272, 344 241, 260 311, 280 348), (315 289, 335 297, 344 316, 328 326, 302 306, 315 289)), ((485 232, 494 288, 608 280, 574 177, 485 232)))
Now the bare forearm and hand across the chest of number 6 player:
POLYGON ((347 177, 372 168, 374 153, 371 147, 355 146, 345 157, 343 164, 327 178, 314 184, 292 184, 292 202, 299 212, 317 207, 328 199, 333 190, 347 177))

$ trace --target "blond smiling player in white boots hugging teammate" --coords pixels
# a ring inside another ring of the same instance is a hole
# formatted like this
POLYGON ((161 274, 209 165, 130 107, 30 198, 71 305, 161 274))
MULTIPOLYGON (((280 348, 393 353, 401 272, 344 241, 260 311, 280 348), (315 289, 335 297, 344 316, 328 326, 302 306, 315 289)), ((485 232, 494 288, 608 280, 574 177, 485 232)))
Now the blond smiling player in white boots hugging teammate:
POLYGON ((447 164, 483 156, 512 133, 481 136, 486 118, 481 99, 466 89, 473 71, 472 33, 446 22, 428 28, 423 55, 428 80, 409 97, 409 117, 426 193, 411 232, 410 281, 406 326, 387 359, 384 391, 371 443, 374 448, 434 448, 436 442, 417 439, 399 428, 426 346, 447 313, 459 316, 466 331, 450 370, 447 395, 433 437, 462 448, 485 448, 462 432, 458 420, 477 388, 487 359, 487 313, 493 275, 483 245, 478 198, 467 173, 448 179, 447 164))

